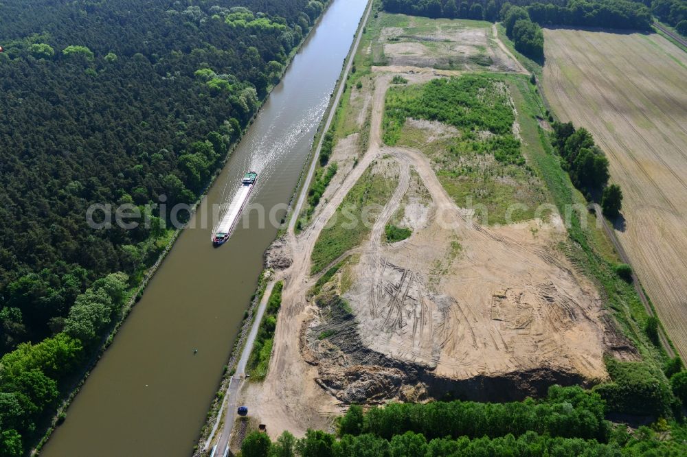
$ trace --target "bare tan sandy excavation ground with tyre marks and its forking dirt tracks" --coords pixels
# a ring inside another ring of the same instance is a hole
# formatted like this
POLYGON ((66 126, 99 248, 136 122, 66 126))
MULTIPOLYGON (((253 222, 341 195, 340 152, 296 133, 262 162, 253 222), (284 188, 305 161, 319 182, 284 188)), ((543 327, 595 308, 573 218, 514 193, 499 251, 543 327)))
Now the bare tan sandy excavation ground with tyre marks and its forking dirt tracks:
POLYGON ((306 229, 268 253, 292 263, 276 272, 286 282, 269 374, 245 386, 242 404, 271 436, 299 436, 331 429, 354 402, 447 392, 519 399, 554 382, 605 379, 604 353, 624 342, 607 328, 598 292, 556 248, 566 236, 559 219, 500 228, 466 222, 427 156, 381 143, 392 74, 375 74, 368 150, 357 150, 354 139, 339 142, 333 156, 348 152, 357 165, 340 168, 306 229), (313 246, 368 168, 393 169, 396 189, 367 241, 343 255, 343 266, 312 296, 322 277, 310 274, 313 246), (392 219, 412 236, 383 242, 392 219))

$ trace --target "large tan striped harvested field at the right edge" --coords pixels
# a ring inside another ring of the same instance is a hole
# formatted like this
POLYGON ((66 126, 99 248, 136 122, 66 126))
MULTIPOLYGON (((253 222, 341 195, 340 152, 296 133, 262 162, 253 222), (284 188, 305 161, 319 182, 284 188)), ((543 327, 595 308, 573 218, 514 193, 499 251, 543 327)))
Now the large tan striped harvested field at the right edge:
POLYGON ((545 95, 624 194, 616 233, 687 356, 687 54, 657 34, 545 30, 545 95))

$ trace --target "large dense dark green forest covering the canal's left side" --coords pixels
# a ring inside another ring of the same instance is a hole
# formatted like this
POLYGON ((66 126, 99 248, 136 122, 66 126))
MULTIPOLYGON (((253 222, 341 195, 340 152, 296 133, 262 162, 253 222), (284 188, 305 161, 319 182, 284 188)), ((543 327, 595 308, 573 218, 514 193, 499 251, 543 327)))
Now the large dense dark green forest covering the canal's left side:
POLYGON ((0 3, 0 456, 42 434, 169 242, 159 203, 203 194, 326 3, 0 3), (92 204, 150 224, 93 229, 92 204))

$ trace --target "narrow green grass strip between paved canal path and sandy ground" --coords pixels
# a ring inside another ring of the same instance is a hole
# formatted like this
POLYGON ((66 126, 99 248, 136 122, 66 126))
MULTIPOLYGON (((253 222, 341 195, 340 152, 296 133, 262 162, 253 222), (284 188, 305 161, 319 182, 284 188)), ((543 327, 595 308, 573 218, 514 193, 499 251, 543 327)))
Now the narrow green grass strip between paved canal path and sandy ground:
POLYGON ((246 364, 246 373, 255 381, 264 379, 267 376, 267 371, 269 371, 269 358, 272 355, 274 330, 277 327, 277 314, 282 305, 282 288, 284 288, 284 281, 275 283, 272 288, 272 293, 267 301, 267 307, 260 321, 258 336, 256 336, 253 350, 246 364))

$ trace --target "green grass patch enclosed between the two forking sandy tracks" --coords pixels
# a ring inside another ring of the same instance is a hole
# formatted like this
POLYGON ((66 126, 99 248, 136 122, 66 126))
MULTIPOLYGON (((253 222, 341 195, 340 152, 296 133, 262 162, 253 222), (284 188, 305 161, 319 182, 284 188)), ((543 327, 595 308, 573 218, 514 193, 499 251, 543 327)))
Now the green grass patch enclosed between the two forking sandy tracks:
POLYGON ((365 170, 319 234, 311 257, 312 274, 322 271, 370 234, 379 211, 370 211, 363 220, 363 208, 377 205, 381 210, 382 205, 391 197, 394 187, 395 181, 380 174, 372 174, 370 169, 365 170))

